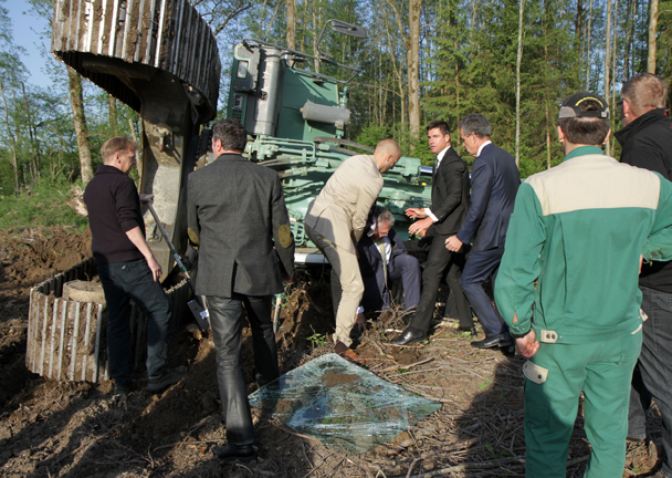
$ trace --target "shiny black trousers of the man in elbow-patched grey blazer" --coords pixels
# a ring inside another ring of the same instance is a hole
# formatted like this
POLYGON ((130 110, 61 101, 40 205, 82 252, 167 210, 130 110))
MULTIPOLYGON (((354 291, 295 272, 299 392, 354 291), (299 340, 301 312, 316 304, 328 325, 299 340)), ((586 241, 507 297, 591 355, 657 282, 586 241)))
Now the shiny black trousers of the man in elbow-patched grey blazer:
POLYGON ((254 428, 241 360, 243 303, 252 330, 258 384, 265 385, 280 375, 271 319, 271 295, 233 294, 232 298, 207 295, 216 347, 217 382, 224 412, 227 441, 230 444, 254 443, 254 428))

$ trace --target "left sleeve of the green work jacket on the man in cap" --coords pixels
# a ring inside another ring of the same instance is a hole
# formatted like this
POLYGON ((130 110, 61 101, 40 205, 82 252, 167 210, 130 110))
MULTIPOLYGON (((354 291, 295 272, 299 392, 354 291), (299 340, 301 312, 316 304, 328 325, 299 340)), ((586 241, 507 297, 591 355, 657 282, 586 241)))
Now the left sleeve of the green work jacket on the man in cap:
POLYGON ((495 302, 512 333, 525 334, 532 325, 534 282, 539 277, 539 253, 546 240, 542 205, 532 186, 521 185, 516 195, 504 256, 495 282, 495 302), (517 321, 514 323, 514 314, 517 321))

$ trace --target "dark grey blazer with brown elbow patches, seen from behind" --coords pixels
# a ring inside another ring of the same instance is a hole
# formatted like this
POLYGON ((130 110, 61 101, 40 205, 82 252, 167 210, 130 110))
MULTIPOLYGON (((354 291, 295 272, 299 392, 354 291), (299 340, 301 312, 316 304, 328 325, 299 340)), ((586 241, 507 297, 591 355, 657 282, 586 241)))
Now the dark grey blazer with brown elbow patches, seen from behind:
POLYGON ((283 291, 281 268, 294 272, 294 238, 275 170, 223 154, 189 175, 187 208, 189 237, 200 243, 196 293, 283 291))

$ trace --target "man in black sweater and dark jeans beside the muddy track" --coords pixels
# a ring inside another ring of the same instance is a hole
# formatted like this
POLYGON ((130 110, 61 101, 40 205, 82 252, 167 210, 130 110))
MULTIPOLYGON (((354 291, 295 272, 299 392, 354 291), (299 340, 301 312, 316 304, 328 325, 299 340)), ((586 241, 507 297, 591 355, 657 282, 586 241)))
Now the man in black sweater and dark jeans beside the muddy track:
POLYGON ((84 191, 91 250, 107 303, 109 375, 122 398, 133 389, 132 299, 147 316, 147 387, 158 392, 182 376, 166 370, 170 304, 159 283, 161 267, 145 240, 140 197, 128 177, 137 152, 138 145, 128 138, 105 142, 101 148, 104 164, 84 191))

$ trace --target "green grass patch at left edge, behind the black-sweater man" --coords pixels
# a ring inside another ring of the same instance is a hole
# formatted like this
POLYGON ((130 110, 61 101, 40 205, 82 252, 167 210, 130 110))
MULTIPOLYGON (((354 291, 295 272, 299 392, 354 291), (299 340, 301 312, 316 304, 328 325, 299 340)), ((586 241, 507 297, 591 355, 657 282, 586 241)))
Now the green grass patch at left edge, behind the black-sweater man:
POLYGON ((71 226, 84 232, 88 218, 78 216, 65 202, 72 199, 70 183, 45 183, 33 186, 19 197, 0 196, 0 229, 71 226))

